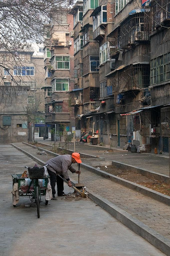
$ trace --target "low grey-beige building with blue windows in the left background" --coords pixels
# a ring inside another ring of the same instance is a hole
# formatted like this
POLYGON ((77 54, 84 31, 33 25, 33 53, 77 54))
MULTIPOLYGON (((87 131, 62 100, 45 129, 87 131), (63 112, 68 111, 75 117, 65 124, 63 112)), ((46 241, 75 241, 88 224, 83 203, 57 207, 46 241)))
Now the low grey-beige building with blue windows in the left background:
POLYGON ((32 140, 34 124, 44 111, 43 56, 34 48, 1 50, 0 143, 32 140))

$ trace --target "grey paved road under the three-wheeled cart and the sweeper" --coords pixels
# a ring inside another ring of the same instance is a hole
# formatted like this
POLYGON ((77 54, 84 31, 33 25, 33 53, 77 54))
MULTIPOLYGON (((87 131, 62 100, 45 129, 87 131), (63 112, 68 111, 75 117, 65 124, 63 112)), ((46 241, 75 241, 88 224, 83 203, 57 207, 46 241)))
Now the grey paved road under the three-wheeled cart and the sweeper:
MULTIPOLYGON (((163 256, 90 199, 58 198, 48 206, 12 206, 12 177, 35 162, 10 145, 0 145, 0 255, 2 256, 163 256)), ((65 187, 69 192, 70 188, 65 187)))

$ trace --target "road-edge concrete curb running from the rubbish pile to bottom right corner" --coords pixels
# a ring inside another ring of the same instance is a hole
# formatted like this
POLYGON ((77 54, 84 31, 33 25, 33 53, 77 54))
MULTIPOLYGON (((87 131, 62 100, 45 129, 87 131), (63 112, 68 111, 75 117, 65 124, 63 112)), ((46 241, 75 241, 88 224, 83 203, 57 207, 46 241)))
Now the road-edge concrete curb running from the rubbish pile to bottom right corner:
MULTIPOLYGON (((86 188, 87 189, 87 188, 86 188)), ((88 190, 88 189, 87 189, 88 190)), ((111 214, 114 218, 122 222, 126 227, 130 228, 133 232, 150 242, 154 247, 161 250, 164 254, 170 256, 170 240, 157 233, 152 228, 148 227, 141 221, 132 217, 130 214, 124 210, 118 208, 116 205, 112 204, 105 198, 102 198, 98 194, 93 192, 89 193, 89 198, 111 214)))

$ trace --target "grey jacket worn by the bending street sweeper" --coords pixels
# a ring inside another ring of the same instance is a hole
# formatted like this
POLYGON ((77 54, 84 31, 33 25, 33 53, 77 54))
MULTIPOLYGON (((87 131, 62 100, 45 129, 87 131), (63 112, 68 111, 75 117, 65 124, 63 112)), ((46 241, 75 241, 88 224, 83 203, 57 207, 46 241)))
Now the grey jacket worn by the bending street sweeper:
POLYGON ((50 171, 55 172, 56 174, 63 174, 66 180, 69 180, 68 170, 72 173, 76 172, 76 169, 71 166, 72 156, 70 155, 56 156, 48 160, 46 164, 49 164, 47 169, 49 168, 50 171))

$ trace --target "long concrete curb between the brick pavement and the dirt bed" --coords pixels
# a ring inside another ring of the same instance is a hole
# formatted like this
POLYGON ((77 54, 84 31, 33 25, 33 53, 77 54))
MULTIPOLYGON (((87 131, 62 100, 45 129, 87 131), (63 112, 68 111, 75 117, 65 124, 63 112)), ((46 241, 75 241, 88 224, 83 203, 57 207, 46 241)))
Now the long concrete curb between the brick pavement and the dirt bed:
POLYGON ((157 192, 155 190, 152 190, 150 188, 146 188, 144 186, 141 186, 139 184, 136 184, 134 182, 124 180, 120 177, 114 176, 113 174, 109 174, 108 172, 104 172, 102 170, 99 170, 97 168, 94 168, 92 166, 89 166, 88 164, 81 164, 86 170, 93 172, 95 174, 98 174, 104 178, 110 179, 122 186, 125 186, 127 188, 130 188, 132 190, 135 190, 145 196, 149 196, 150 198, 153 198, 159 202, 162 202, 164 204, 170 205, 170 196, 166 196, 164 194, 161 194, 160 192, 157 192))

